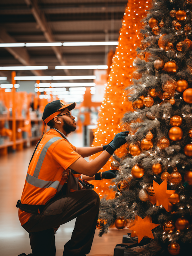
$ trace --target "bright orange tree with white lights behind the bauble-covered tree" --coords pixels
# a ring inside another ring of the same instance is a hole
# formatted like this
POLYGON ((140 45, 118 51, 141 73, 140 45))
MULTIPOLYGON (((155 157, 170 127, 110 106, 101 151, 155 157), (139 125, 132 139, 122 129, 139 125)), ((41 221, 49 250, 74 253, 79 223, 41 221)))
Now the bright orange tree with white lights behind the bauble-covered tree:
MULTIPOLYGON (((122 131, 121 118, 126 111, 133 111, 132 103, 127 101, 124 89, 131 84, 133 59, 137 56, 135 49, 140 45, 140 29, 143 26, 140 20, 147 15, 146 10, 149 8, 149 1, 130 0, 127 4, 118 46, 116 47, 115 56, 107 86, 105 96, 99 110, 98 128, 94 130, 93 146, 108 144, 116 133, 122 131)), ((143 23, 144 24, 144 23, 143 23)), ((126 146, 116 150, 118 156, 123 156, 126 152, 126 146)), ((94 154, 91 159, 97 157, 100 153, 94 154)), ((105 164, 101 171, 111 169, 113 158, 105 164)), ((118 168, 118 167, 117 167, 118 168)), ((92 181, 95 186, 94 190, 103 197, 114 198, 114 192, 108 190, 108 182, 92 181)))

